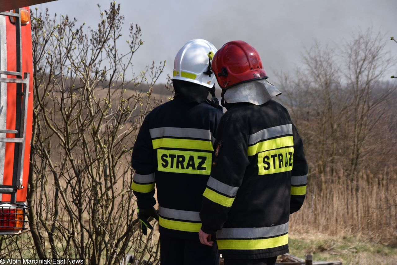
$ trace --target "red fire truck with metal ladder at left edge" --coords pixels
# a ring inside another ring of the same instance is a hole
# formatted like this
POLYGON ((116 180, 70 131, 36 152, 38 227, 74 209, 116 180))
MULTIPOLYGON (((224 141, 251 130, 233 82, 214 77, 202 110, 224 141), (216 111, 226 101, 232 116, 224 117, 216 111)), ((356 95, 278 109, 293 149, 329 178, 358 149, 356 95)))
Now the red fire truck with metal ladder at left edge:
POLYGON ((27 186, 33 119, 29 6, 50 0, 0 3, 0 234, 27 228, 27 186))

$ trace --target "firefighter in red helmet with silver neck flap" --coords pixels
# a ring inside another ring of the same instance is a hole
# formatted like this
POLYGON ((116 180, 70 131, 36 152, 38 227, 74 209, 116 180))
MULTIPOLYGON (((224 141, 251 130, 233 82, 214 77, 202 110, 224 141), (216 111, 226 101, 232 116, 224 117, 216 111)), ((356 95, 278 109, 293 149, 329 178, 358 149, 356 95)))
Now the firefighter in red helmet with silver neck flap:
POLYGON ((302 140, 281 94, 266 81, 262 61, 244 41, 226 43, 212 60, 222 88, 222 116, 210 178, 203 194, 200 242, 225 265, 275 264, 288 252, 289 214, 306 194, 302 140))

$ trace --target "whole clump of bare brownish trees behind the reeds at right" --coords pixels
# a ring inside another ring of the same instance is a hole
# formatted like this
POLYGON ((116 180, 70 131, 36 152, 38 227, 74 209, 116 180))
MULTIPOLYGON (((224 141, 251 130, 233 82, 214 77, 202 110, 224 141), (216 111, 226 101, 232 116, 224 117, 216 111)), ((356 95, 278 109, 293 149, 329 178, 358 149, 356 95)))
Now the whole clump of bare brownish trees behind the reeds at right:
POLYGON ((363 162, 366 170, 375 171, 379 156, 389 154, 379 154, 390 146, 379 142, 379 132, 386 137, 393 130, 378 125, 392 124, 395 84, 384 80, 392 58, 382 39, 368 30, 341 49, 316 43, 304 54, 303 68, 293 76, 279 75, 287 92, 283 100, 310 150, 310 172, 323 180, 326 171, 355 174, 363 162))

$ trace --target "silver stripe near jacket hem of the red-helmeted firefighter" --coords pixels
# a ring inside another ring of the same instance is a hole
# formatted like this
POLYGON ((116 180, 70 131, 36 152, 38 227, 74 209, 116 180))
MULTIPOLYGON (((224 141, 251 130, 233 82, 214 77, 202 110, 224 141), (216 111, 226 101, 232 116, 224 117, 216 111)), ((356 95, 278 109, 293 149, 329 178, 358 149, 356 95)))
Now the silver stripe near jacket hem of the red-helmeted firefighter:
POLYGON ((216 232, 216 238, 266 238, 288 232, 288 223, 270 227, 223 228, 216 232))

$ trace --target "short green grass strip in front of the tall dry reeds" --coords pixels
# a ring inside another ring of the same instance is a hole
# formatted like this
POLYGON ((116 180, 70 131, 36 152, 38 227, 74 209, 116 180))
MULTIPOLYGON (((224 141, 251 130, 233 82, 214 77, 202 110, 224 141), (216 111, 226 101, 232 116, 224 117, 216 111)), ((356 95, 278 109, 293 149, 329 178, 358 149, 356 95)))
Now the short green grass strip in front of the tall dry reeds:
POLYGON ((396 265, 397 248, 355 236, 322 234, 289 236, 289 253, 304 259, 312 254, 313 261, 342 261, 343 265, 396 265))

